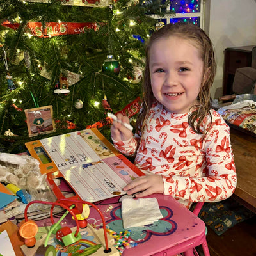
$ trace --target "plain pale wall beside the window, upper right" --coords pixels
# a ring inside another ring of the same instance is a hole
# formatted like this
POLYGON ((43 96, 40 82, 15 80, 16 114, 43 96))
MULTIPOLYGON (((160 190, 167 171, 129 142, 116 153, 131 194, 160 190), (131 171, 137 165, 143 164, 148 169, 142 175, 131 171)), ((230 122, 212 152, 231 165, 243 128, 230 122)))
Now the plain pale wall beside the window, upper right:
POLYGON ((205 0, 205 26, 216 52, 217 74, 212 98, 222 95, 223 51, 256 45, 256 0, 205 0))

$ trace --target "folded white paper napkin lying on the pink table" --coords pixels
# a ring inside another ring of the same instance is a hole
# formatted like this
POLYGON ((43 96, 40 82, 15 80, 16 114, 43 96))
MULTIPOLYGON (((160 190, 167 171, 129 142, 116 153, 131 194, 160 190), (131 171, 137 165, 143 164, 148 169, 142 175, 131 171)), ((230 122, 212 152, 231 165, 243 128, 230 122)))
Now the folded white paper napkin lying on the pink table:
POLYGON ((163 218, 156 198, 124 198, 122 220, 124 228, 141 227, 163 218))

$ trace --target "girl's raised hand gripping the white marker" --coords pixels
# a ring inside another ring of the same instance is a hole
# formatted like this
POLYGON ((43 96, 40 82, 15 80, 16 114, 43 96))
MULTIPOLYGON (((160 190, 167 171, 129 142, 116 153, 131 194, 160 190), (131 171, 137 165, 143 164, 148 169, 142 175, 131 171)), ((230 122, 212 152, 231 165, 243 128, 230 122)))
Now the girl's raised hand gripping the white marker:
MULTIPOLYGON (((118 113, 116 115, 117 119, 121 122, 129 124, 129 118, 127 116, 123 116, 122 114, 118 113)), ((125 141, 132 138, 133 134, 132 132, 124 127, 120 122, 113 120, 113 125, 110 128, 111 131, 111 137, 113 140, 116 141, 125 141)))

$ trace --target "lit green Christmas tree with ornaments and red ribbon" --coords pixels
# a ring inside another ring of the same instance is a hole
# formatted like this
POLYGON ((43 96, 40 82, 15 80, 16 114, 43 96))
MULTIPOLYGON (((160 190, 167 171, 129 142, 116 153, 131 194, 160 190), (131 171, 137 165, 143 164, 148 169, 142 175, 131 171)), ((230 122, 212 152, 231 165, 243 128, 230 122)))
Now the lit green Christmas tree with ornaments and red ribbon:
POLYGON ((150 13, 166 15, 166 6, 75 1, 0 1, 0 152, 93 124, 109 138, 106 112, 141 96, 144 42, 157 23, 150 13), (43 106, 52 106, 56 130, 29 137, 24 110, 43 106))

